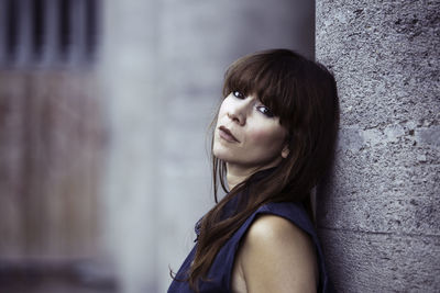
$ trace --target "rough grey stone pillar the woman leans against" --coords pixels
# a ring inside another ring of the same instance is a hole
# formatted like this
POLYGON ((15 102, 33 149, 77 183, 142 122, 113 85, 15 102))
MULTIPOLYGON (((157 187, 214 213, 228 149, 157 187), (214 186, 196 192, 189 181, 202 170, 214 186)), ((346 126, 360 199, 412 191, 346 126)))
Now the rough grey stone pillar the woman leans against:
POLYGON ((439 1, 317 1, 341 127, 318 225, 340 292, 440 291, 439 1))

